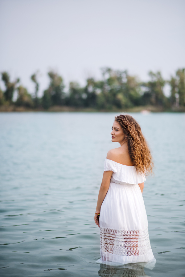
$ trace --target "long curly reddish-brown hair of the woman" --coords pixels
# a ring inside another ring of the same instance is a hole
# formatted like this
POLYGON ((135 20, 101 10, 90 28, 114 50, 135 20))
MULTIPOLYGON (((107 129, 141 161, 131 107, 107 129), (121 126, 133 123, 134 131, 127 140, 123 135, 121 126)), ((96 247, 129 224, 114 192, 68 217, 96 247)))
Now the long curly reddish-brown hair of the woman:
POLYGON ((138 122, 129 114, 115 116, 115 121, 121 125, 128 139, 130 158, 137 173, 146 175, 153 173, 154 163, 152 162, 151 152, 138 122))

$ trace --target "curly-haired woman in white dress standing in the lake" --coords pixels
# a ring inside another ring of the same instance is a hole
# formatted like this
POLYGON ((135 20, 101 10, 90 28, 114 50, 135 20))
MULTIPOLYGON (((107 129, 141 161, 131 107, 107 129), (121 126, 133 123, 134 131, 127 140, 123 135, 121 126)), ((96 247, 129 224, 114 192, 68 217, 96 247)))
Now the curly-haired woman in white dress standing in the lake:
POLYGON ((98 195, 95 223, 100 227, 101 263, 148 262, 154 258, 142 192, 153 163, 141 127, 131 115, 115 117, 112 142, 98 195))

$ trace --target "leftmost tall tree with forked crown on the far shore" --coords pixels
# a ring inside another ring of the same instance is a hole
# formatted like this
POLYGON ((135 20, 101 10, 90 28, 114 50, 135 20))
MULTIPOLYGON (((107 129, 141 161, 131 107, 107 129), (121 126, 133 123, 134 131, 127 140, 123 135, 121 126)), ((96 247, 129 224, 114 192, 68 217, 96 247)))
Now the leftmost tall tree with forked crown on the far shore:
POLYGON ((2 72, 1 75, 2 75, 2 81, 6 86, 6 90, 4 91, 4 98, 8 102, 12 102, 16 85, 20 80, 19 78, 17 78, 14 82, 10 82, 10 75, 6 71, 2 72))

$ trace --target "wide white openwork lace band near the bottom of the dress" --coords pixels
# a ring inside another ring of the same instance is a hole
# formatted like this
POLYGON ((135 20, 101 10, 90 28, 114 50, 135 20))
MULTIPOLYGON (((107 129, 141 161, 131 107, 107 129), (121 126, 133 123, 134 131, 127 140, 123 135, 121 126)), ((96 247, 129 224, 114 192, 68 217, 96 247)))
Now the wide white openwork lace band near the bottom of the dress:
POLYGON ((146 255, 150 249, 148 228, 117 230, 100 227, 101 250, 119 256, 146 255))

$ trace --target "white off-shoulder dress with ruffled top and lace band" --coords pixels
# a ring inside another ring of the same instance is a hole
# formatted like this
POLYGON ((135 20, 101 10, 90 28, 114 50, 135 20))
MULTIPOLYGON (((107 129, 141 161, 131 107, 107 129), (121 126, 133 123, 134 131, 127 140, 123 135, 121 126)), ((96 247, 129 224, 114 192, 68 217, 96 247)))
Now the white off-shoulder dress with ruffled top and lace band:
POLYGON ((99 262, 121 264, 155 260, 148 235, 148 220, 139 183, 146 180, 134 166, 105 159, 104 171, 113 171, 101 205, 99 262))

